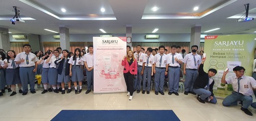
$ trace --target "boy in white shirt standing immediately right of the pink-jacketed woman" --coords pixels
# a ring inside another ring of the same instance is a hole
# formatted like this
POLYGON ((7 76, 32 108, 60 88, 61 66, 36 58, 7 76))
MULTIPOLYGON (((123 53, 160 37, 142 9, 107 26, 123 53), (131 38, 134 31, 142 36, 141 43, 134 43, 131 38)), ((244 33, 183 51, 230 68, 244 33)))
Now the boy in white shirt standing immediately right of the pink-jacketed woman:
POLYGON ((141 80, 143 76, 143 71, 146 63, 145 54, 141 52, 141 45, 137 45, 137 52, 134 53, 135 59, 137 59, 138 68, 137 68, 137 77, 134 81, 134 91, 137 90, 137 93, 140 93, 141 89, 141 80))

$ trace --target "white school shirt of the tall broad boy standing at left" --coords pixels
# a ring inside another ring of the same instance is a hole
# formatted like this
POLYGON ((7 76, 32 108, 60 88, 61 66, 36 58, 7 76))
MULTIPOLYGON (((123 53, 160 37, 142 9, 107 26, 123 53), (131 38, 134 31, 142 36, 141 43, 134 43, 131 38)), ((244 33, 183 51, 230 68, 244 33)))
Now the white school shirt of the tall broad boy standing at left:
POLYGON ((27 64, 26 58, 27 58, 26 53, 25 53, 25 52, 22 52, 22 53, 19 53, 19 54, 16 56, 16 58, 15 58, 14 61, 16 62, 16 61, 20 61, 20 60, 22 60, 22 59, 25 60, 24 62, 22 62, 22 63, 19 64, 19 67, 31 67, 31 66, 34 66, 34 65, 35 65, 35 62, 38 61, 38 58, 37 58, 36 55, 33 54, 33 53, 29 53, 29 55, 28 55, 29 64, 27 64))

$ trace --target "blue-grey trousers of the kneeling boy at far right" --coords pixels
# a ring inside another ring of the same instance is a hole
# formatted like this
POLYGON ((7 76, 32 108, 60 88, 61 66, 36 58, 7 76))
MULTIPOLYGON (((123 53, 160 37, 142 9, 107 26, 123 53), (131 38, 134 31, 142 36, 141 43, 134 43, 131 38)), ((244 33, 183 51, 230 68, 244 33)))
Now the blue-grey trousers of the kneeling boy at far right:
POLYGON ((252 104, 252 96, 243 95, 241 93, 232 92, 222 102, 223 106, 236 106, 238 101, 243 102, 243 108, 247 109, 252 104))

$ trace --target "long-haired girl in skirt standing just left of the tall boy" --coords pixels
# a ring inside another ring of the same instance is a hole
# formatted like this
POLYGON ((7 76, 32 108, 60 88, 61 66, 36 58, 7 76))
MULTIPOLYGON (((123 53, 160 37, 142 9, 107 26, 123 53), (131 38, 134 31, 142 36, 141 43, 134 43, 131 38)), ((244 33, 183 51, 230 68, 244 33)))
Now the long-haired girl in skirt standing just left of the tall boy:
POLYGON ((4 60, 4 65, 2 65, 3 68, 6 68, 7 85, 11 85, 11 90, 13 91, 10 96, 16 94, 16 84, 18 85, 19 93, 23 93, 22 82, 19 77, 19 66, 14 62, 15 57, 15 51, 8 51, 7 58, 4 60))

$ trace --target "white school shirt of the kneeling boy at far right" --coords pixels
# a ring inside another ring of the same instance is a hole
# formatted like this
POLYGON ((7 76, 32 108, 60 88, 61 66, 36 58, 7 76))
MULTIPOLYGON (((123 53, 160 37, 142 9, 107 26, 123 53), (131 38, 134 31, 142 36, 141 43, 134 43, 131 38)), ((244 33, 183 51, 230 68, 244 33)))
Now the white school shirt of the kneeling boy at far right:
MULTIPOLYGON (((244 95, 253 95, 253 88, 256 88, 256 81, 249 76, 243 76, 242 79, 239 81, 240 89, 239 93, 242 93, 244 95)), ((226 82, 228 84, 231 84, 233 87, 233 90, 238 92, 238 78, 237 76, 230 76, 226 79, 226 82)))

